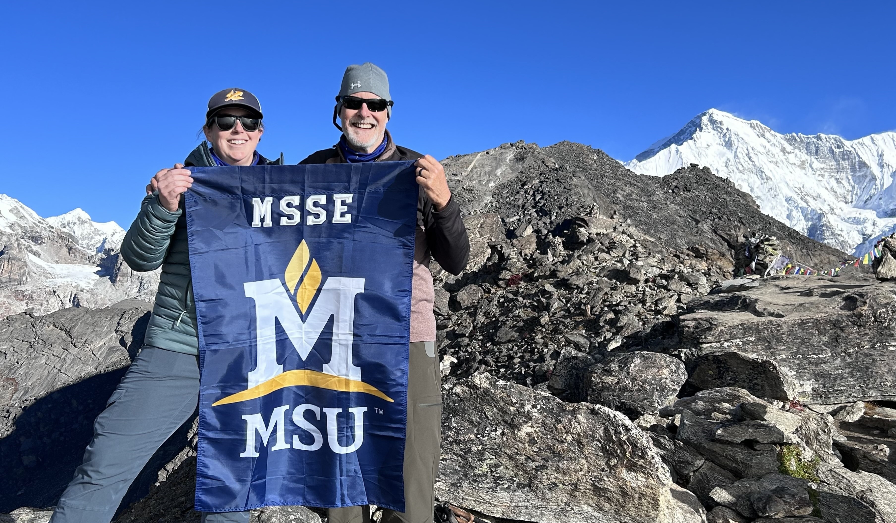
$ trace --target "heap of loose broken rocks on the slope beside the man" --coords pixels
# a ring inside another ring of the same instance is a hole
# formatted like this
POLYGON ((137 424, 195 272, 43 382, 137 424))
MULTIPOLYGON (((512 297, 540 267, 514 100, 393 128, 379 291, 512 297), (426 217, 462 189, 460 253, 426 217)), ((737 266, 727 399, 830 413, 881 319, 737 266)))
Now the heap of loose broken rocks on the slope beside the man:
POLYGON ((495 215, 467 221, 490 254, 436 291, 446 375, 487 371, 534 386, 564 347, 598 357, 651 347, 650 332, 672 329, 685 304, 730 274, 705 250, 668 253, 619 219, 578 216, 562 236, 525 224, 510 239, 495 215))

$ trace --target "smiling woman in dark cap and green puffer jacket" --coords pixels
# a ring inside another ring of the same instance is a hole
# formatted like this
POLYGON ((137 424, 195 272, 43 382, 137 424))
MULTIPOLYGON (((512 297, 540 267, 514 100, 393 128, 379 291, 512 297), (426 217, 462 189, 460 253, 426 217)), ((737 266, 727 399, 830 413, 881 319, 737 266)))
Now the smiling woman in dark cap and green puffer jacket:
MULTIPOLYGON (((144 345, 94 423, 94 435, 52 523, 108 523, 134 478, 159 446, 189 420, 199 398, 199 342, 183 193, 187 167, 277 165, 255 148, 264 133, 262 107, 247 90, 226 89, 209 100, 203 141, 184 164, 162 169, 121 247, 136 271, 161 266, 144 345)), ((206 523, 246 523, 249 512, 202 513, 206 523)))

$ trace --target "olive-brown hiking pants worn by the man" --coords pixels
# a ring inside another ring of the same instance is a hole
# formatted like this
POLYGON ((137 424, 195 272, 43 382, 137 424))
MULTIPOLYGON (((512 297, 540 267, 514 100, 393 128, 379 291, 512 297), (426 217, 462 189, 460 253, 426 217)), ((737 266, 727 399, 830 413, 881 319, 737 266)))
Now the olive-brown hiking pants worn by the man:
MULTIPOLYGON (((381 523, 433 523, 433 487, 442 457, 442 388, 435 342, 410 344, 404 512, 383 509, 381 523)), ((327 510, 328 523, 369 523, 370 507, 327 510)))

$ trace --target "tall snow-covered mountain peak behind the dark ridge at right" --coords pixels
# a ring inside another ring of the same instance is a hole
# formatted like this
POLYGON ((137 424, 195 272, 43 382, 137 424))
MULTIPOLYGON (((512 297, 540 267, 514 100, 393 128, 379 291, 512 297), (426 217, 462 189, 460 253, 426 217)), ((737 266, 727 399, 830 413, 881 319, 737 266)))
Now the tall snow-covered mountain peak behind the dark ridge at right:
POLYGON ((772 218, 847 253, 864 254, 896 229, 896 133, 780 134, 710 109, 625 167, 666 176, 692 163, 753 195, 772 218))

